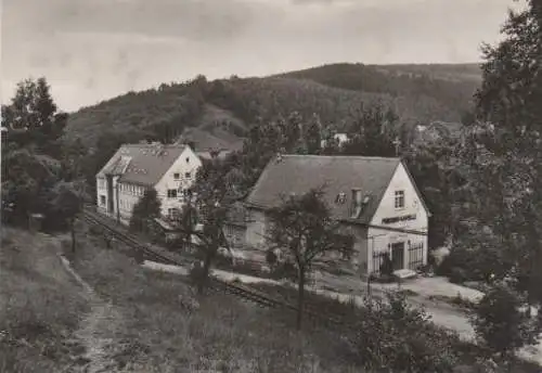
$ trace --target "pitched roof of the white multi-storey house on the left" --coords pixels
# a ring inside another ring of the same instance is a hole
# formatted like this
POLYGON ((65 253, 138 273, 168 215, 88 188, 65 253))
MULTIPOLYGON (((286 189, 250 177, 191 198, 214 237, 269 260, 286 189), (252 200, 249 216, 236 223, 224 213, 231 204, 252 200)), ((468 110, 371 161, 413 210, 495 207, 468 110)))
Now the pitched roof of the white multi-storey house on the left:
POLYGON ((120 182, 154 186, 185 149, 180 144, 124 144, 98 177, 118 175, 120 182))

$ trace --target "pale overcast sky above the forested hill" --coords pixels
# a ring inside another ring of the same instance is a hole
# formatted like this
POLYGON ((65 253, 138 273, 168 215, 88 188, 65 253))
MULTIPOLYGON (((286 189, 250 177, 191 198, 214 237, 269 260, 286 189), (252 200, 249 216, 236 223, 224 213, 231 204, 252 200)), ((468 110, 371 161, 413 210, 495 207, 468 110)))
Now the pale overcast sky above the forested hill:
POLYGON ((512 0, 3 0, 2 102, 46 76, 62 110, 129 90, 333 62, 459 63, 512 0))

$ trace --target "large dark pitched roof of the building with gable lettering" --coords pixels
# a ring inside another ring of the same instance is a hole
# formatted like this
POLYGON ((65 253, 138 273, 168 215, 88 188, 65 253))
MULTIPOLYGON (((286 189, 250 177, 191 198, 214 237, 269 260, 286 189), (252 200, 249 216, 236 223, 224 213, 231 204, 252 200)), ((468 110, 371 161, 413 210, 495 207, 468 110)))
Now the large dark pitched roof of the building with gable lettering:
POLYGON ((370 223, 400 158, 362 156, 282 155, 267 165, 246 200, 248 206, 268 209, 279 206, 282 197, 324 188, 324 198, 335 219, 350 220, 352 190, 369 196, 356 221, 370 223), (337 197, 343 197, 337 202, 337 197))

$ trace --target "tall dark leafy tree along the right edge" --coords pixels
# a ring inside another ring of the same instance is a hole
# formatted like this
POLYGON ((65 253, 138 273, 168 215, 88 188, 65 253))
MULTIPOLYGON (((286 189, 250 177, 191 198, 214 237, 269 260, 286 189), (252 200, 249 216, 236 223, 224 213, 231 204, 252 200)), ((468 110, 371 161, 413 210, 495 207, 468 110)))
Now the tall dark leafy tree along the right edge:
POLYGON ((475 186, 470 219, 498 239, 509 273, 542 304, 542 16, 540 1, 509 12, 503 40, 485 46, 483 81, 465 163, 475 186))

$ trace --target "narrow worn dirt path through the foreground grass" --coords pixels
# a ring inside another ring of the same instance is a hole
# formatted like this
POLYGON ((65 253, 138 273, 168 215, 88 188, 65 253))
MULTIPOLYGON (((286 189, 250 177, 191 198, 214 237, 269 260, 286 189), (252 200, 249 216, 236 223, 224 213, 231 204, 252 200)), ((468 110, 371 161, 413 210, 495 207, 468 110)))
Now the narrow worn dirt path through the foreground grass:
POLYGON ((90 304, 90 311, 79 322, 79 329, 66 340, 66 345, 79 347, 75 348, 77 355, 66 372, 114 372, 116 362, 111 357, 111 349, 114 347, 115 332, 122 322, 122 314, 111 303, 101 299, 65 258, 61 259, 65 269, 83 287, 90 304))

